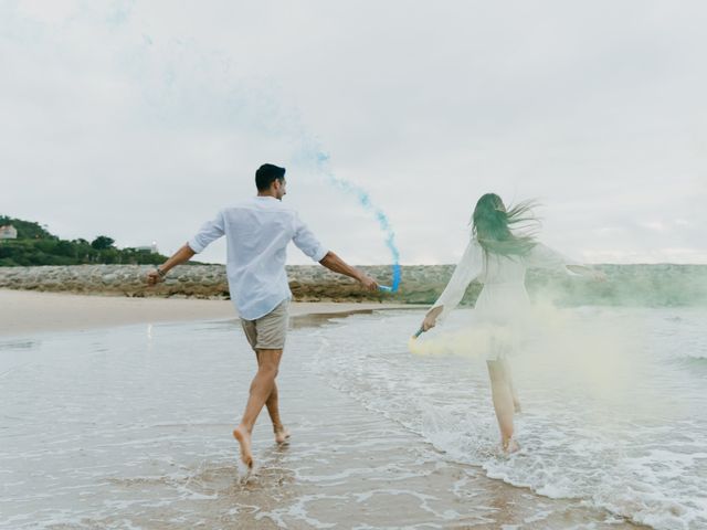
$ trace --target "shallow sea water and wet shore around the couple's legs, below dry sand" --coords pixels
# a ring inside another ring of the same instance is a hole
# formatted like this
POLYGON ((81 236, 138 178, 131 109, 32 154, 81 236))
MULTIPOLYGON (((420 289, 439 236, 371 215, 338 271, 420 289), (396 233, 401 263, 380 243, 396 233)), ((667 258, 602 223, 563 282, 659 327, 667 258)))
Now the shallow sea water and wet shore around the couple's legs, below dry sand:
POLYGON ((238 321, 0 338, 0 528, 707 528, 706 307, 539 310, 509 360, 509 456, 473 344, 411 352, 423 315, 294 327, 292 442, 263 412, 250 473, 238 321))

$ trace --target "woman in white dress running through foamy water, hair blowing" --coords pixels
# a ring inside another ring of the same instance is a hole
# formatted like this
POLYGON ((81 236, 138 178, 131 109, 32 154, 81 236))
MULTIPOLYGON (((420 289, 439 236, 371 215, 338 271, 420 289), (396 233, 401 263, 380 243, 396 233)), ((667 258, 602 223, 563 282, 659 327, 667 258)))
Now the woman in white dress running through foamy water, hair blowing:
POLYGON ((476 203, 472 219, 473 230, 462 261, 456 266, 446 288, 428 311, 422 329, 433 328, 454 309, 468 284, 478 279, 483 289, 476 300, 476 317, 488 328, 489 340, 485 351, 492 398, 502 448, 506 453, 519 449, 514 439, 513 415, 520 405, 515 395, 508 357, 517 350, 515 340, 526 325, 530 301, 525 288, 526 269, 541 267, 571 271, 603 279, 603 275, 583 265, 571 263, 560 254, 535 241, 532 235, 511 229, 527 227, 535 222, 531 203, 525 202, 506 210, 500 198, 486 193, 476 203))

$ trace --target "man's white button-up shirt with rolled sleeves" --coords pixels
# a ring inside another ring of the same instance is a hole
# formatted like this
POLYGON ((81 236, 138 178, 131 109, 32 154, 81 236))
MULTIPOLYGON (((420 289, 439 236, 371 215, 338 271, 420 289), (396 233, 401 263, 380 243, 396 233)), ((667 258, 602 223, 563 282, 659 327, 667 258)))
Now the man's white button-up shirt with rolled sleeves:
POLYGON ((291 241, 315 262, 327 254, 297 212, 274 197, 254 197, 221 210, 188 244, 200 253, 222 235, 231 299, 246 320, 263 317, 292 298, 285 272, 291 241))

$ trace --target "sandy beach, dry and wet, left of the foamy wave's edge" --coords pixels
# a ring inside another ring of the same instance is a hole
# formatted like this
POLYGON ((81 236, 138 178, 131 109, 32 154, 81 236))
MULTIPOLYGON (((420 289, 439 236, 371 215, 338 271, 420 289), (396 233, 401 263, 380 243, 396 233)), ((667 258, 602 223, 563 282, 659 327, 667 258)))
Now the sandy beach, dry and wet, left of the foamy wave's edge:
POLYGON ((246 475, 230 432, 254 361, 229 301, 11 292, 0 300, 0 528, 641 528, 451 462, 323 380, 327 326, 313 325, 380 305, 295 306, 303 320, 278 378, 292 442, 274 444, 263 412, 246 475))

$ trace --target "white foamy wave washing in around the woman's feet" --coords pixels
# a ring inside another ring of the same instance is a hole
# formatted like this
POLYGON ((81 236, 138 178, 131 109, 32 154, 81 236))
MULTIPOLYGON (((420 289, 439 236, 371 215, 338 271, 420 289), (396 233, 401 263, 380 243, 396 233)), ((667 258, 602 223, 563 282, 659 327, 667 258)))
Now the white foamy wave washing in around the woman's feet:
MULTIPOLYGON (((694 328, 704 321, 703 316, 692 312, 680 318, 694 328)), ((632 333, 636 341, 645 339, 643 328, 627 326, 625 314, 620 317, 583 311, 579 321, 610 340, 615 340, 618 330, 632 333)), ((647 319, 648 328, 651 324, 661 328, 671 322, 664 317, 661 311, 643 312, 641 320, 647 319)), ((349 322, 355 332, 349 326, 324 329, 323 340, 329 346, 326 354, 318 356, 317 371, 367 409, 418 433, 444 458, 479 466, 489 478, 549 498, 582 499, 655 529, 707 527, 707 418, 673 407, 677 396, 665 399, 675 389, 683 392, 679 398, 693 403, 704 402, 705 396, 694 378, 662 367, 673 352, 662 351, 659 343, 653 350, 635 351, 616 344, 606 352, 592 344, 588 351, 605 356, 608 364, 597 374, 568 373, 570 364, 562 363, 548 364, 545 374, 519 370, 519 378, 526 378, 521 388, 528 393, 524 404, 528 412, 517 416, 523 448, 505 457, 497 451, 497 425, 483 363, 410 356, 397 337, 415 328, 416 315, 356 320, 356 326, 349 322), (376 337, 376 348, 361 346, 360 337, 376 337), (618 354, 625 358, 611 364, 618 354), (603 388, 612 372, 611 388, 603 388), (626 377, 636 379, 630 383, 626 377)), ((680 340, 679 333, 666 337, 672 342, 680 340)), ((679 362, 701 365, 706 361, 700 354, 679 362)), ((578 370, 584 369, 597 367, 580 364, 578 370)))

